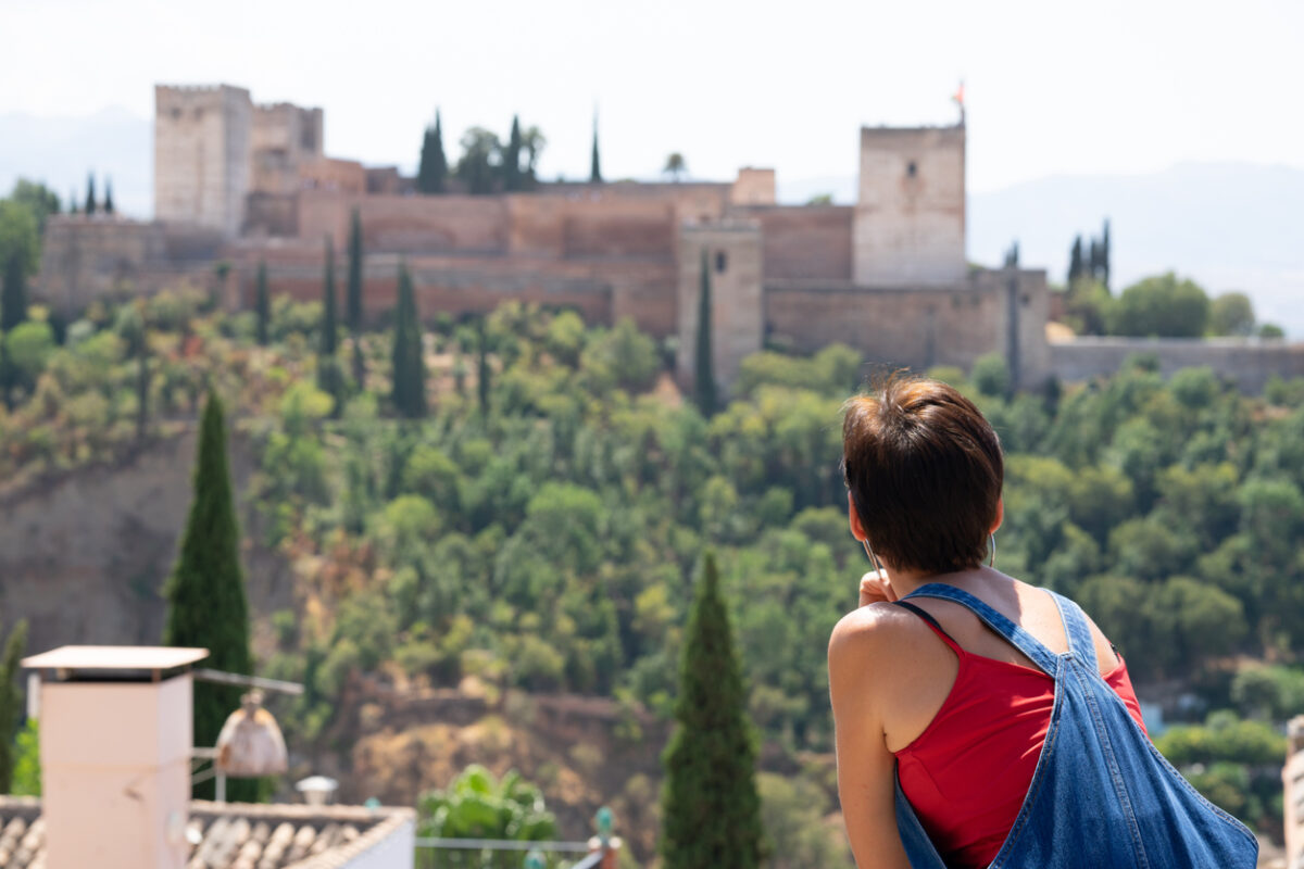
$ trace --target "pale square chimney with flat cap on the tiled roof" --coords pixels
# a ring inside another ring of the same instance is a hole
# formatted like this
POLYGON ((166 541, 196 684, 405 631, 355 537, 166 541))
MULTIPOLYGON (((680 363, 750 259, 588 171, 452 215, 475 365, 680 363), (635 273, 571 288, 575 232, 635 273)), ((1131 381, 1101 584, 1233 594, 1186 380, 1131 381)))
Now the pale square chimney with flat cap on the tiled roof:
POLYGON ((207 649, 61 646, 40 683, 47 869, 181 869, 192 681, 207 649))

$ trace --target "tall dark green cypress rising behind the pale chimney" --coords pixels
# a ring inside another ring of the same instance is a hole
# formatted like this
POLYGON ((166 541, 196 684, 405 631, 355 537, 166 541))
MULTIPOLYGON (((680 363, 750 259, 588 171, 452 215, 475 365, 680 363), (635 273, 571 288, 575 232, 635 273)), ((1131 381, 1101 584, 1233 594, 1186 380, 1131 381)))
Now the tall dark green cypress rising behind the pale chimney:
MULTIPOLYGON (((227 468, 226 422, 222 401, 213 392, 200 423, 194 500, 164 594, 168 602, 164 645, 207 649, 205 666, 213 670, 252 672, 249 607, 240 569, 240 526, 227 468)), ((196 683, 194 744, 215 745, 227 715, 239 706, 239 688, 196 683)), ((231 784, 228 799, 252 796, 253 782, 231 784)), ((196 796, 211 792, 207 782, 196 787, 196 796)))

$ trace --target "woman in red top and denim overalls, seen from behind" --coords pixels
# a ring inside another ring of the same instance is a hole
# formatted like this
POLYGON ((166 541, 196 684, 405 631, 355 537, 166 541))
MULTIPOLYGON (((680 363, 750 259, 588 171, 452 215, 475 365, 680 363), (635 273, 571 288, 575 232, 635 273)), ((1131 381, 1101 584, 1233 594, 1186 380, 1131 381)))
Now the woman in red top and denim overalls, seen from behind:
POLYGON ((861 869, 1254 865, 1253 835, 1150 744, 1101 629, 983 564, 1004 464, 968 399, 889 379, 848 403, 842 463, 876 568, 828 649, 861 869))

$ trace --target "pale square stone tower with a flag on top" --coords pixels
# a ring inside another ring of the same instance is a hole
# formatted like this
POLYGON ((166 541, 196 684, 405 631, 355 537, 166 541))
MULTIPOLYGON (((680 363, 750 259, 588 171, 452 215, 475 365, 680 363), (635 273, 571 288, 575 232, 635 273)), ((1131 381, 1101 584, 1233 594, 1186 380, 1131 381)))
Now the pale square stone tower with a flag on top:
POLYGON ((865 287, 953 284, 965 262, 965 128, 861 128, 853 276, 865 287))

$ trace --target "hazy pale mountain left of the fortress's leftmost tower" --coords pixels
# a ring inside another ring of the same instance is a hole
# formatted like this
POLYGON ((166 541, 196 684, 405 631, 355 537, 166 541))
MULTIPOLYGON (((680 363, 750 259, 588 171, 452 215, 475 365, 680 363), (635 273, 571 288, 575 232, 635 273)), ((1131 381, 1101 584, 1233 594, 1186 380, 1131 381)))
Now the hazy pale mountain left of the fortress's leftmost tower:
POLYGON ((86 176, 95 173, 103 198, 113 182, 113 205, 137 218, 154 214, 154 122, 123 108, 86 117, 0 115, 0 195, 20 178, 43 181, 64 207, 86 201, 86 176))

